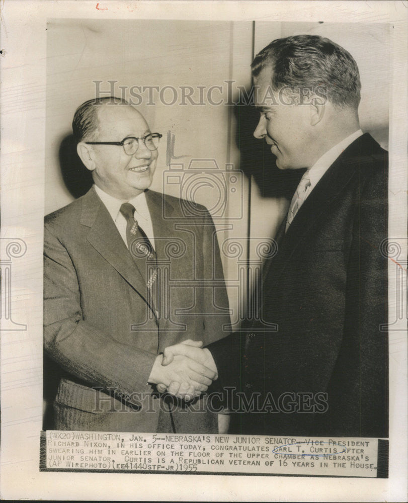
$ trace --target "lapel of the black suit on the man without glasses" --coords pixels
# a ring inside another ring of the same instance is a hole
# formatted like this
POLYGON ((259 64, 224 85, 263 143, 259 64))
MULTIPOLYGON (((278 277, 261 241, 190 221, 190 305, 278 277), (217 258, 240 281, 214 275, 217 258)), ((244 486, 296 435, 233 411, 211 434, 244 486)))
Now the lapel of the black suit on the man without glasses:
POLYGON ((366 140, 367 136, 369 135, 357 138, 325 172, 310 196, 300 207, 286 234, 284 234, 286 218, 282 222, 276 236, 279 246, 278 253, 266 267, 266 271, 269 273, 268 281, 273 279, 267 288, 272 286, 283 274, 285 266, 296 248, 311 234, 315 222, 330 211, 332 204, 336 204, 336 199, 356 173, 359 163, 359 144, 362 139, 366 140))

